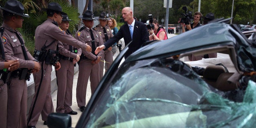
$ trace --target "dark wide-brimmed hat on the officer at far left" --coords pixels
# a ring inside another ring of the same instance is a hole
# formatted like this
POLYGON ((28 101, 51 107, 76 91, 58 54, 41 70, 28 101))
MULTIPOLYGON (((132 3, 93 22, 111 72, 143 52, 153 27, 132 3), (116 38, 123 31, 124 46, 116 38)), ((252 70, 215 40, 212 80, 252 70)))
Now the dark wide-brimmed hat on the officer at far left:
POLYGON ((22 5, 21 2, 17 0, 9 0, 5 3, 4 7, 0 7, 0 9, 3 9, 5 11, 8 11, 10 13, 24 16, 24 17, 29 17, 28 14, 24 14, 24 6, 22 5))

